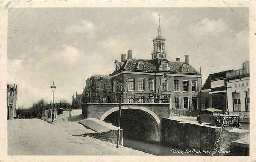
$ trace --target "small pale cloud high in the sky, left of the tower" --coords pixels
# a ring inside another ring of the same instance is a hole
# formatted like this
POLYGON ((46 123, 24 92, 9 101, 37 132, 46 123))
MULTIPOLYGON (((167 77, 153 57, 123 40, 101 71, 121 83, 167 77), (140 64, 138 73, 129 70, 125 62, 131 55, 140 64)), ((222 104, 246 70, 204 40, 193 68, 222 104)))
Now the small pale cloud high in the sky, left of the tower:
POLYGON ((87 38, 94 38, 96 32, 96 26, 93 22, 83 20, 74 25, 65 27, 64 32, 67 35, 83 35, 87 38))

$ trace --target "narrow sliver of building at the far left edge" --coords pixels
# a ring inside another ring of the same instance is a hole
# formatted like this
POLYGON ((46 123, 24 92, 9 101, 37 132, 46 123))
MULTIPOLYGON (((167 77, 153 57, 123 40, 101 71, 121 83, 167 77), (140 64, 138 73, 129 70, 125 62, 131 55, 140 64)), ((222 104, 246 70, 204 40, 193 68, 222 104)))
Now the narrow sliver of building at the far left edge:
POLYGON ((7 119, 16 117, 17 85, 7 84, 7 119))

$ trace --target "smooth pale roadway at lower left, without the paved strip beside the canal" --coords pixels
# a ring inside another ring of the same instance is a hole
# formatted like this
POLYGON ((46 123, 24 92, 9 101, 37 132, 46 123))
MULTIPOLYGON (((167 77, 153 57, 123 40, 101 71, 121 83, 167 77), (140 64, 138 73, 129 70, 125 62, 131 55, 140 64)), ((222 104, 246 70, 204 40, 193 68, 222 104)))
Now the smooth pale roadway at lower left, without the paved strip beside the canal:
POLYGON ((103 155, 40 119, 8 120, 8 155, 103 155))

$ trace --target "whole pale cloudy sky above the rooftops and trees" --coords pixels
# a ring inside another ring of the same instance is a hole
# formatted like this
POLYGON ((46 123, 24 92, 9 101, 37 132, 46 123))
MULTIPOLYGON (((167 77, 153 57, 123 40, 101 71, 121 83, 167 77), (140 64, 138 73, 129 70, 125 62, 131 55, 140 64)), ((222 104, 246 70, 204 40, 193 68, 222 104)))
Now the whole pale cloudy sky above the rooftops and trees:
POLYGON ((242 68, 249 61, 248 8, 11 8, 8 83, 24 108, 40 99, 72 102, 93 74, 110 74, 121 53, 151 59, 161 14, 167 59, 189 55, 203 73, 242 68))

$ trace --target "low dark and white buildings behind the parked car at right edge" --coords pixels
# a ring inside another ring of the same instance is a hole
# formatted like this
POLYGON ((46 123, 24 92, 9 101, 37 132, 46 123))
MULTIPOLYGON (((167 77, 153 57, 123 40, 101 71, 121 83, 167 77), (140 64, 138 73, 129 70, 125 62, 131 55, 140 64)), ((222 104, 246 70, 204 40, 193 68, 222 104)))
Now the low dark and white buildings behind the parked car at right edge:
POLYGON ((216 108, 241 117, 250 116, 250 64, 242 69, 210 74, 200 96, 201 108, 216 108))

